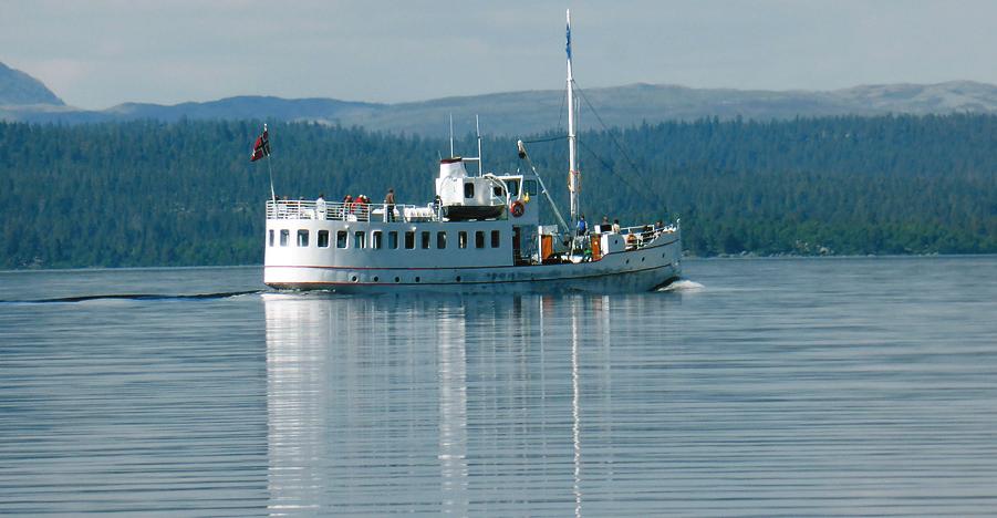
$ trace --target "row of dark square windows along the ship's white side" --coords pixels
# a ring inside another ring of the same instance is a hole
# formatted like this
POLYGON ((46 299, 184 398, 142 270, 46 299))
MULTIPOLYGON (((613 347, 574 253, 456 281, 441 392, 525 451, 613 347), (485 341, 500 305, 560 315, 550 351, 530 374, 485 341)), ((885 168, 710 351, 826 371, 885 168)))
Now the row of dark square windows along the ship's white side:
MULTIPOLYGON (((353 232, 352 244, 350 242, 350 232, 346 230, 339 230, 335 232, 335 247, 336 248, 370 248, 374 250, 380 250, 382 248, 388 248, 392 250, 396 250, 398 248, 398 232, 392 230, 387 234, 387 244, 385 246, 384 242, 384 234, 381 230, 373 230, 371 232, 366 232, 363 230, 356 230, 353 232), (370 239, 367 239, 370 236, 370 239)), ((298 230, 298 239, 297 245, 301 248, 307 248, 309 246, 309 230, 301 229, 298 230)), ((420 232, 416 232, 414 230, 408 230, 404 232, 402 236, 404 246, 408 250, 414 250, 416 246, 416 235, 418 235, 418 245, 419 248, 430 249, 433 248, 433 232, 428 230, 423 230, 420 232)), ((274 246, 277 234, 271 229, 269 235, 269 244, 270 246, 274 246)), ((468 238, 470 237, 470 232, 460 230, 457 232, 457 248, 469 248, 470 242, 468 238)), ((499 248, 502 242, 502 235, 499 230, 491 230, 491 248, 499 248)), ((282 229, 280 231, 280 246, 287 247, 291 241, 291 231, 288 229, 282 229)), ((443 250, 447 248, 447 232, 438 231, 436 232, 436 249, 443 250)), ((486 232, 485 230, 476 230, 474 232, 474 247, 475 248, 485 248, 486 241, 486 232)), ((329 248, 329 230, 319 230, 318 239, 315 245, 319 248, 329 248)))

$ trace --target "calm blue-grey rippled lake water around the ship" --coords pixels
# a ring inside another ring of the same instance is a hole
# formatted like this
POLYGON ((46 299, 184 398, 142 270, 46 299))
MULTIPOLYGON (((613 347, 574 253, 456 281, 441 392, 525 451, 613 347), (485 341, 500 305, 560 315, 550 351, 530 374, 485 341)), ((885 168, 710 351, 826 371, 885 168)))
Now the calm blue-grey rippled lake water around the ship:
POLYGON ((997 258, 684 266, 500 298, 2 272, 0 514, 997 514, 997 258))

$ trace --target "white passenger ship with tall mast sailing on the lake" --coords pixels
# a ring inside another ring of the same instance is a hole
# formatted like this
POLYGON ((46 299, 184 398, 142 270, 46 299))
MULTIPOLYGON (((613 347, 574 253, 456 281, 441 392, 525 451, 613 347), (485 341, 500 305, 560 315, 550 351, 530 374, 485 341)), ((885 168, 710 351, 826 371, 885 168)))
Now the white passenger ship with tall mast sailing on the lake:
MULTIPOLYGON (((440 160, 437 197, 427 206, 269 200, 263 282, 277 289, 364 293, 605 293, 650 291, 678 279, 677 220, 577 231, 570 13, 567 50, 571 225, 532 166, 526 174, 484 173, 479 137, 478 157, 440 160), (469 174, 466 164, 476 164, 477 174, 469 174), (541 196, 558 224, 540 224, 541 196)), ((521 142, 519 156, 529 160, 521 142)))

